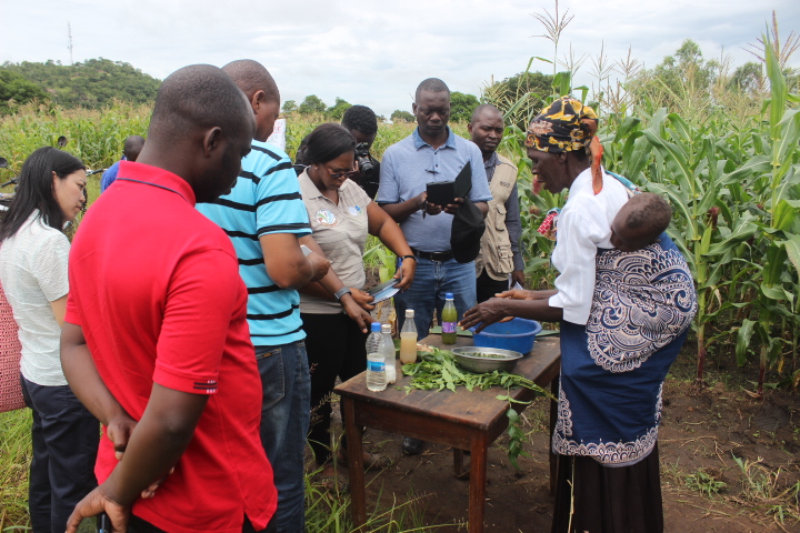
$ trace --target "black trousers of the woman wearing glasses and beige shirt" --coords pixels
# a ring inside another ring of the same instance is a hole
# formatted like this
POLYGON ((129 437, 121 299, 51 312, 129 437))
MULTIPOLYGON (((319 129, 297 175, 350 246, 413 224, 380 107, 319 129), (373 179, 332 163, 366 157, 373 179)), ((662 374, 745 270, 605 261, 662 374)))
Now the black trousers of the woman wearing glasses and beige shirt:
MULTIPOLYGON (((344 313, 300 315, 311 372, 311 431, 309 445, 317 464, 331 457, 330 395, 337 376, 342 381, 367 370, 367 334, 344 313)), ((342 442, 344 446, 344 442, 342 442)))

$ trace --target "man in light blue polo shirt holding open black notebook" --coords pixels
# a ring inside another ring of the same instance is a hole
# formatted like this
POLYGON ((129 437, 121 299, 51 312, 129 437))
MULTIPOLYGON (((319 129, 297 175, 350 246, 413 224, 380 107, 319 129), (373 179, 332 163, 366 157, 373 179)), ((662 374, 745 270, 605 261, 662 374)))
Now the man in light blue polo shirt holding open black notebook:
MULTIPOLYGON (((429 182, 454 180, 469 162, 472 169, 470 200, 486 217, 491 200, 483 157, 478 147, 456 135, 450 119, 450 90, 438 78, 429 78, 417 88, 412 105, 418 128, 383 153, 378 203, 400 223, 417 258, 414 282, 394 296, 402 328, 407 309, 414 310, 418 338, 428 334, 433 310, 441 319, 444 293, 454 295, 458 319, 476 304, 474 261, 459 263, 450 248, 450 228, 461 199, 450 205, 427 202, 429 182), (431 290, 431 288, 433 290, 431 290)), ((421 451, 421 443, 403 441, 406 453, 421 451)))

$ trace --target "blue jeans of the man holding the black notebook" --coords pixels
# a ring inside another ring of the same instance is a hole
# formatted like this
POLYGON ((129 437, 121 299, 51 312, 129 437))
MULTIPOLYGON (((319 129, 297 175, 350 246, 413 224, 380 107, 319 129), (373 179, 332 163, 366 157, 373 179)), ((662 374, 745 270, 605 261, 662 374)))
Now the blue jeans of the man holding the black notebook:
POLYGON ((453 303, 458 311, 458 320, 476 304, 474 262, 459 263, 454 259, 444 262, 417 258, 417 271, 411 286, 403 293, 394 295, 394 308, 398 322, 402 329, 406 310, 414 310, 417 339, 428 336, 428 329, 433 320, 433 310, 441 316, 444 308, 444 293, 453 293, 453 303))

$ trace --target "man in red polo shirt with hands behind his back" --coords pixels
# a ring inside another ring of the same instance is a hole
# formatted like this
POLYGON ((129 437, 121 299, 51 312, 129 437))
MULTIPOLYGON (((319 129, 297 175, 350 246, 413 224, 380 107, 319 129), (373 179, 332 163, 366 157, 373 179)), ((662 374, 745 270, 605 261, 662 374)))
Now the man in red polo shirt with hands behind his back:
POLYGON ((263 530, 274 513, 247 289, 230 239, 194 209, 230 191, 253 133, 220 69, 174 72, 138 161, 81 222, 61 359, 106 431, 101 485, 68 532, 101 512, 111 531, 170 533, 263 530))

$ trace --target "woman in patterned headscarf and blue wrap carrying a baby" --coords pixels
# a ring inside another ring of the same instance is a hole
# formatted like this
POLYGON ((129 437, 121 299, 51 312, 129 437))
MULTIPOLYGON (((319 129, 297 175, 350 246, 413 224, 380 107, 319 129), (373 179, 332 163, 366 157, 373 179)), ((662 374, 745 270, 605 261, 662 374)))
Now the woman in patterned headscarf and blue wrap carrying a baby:
POLYGON ((641 250, 613 248, 612 221, 631 185, 600 167, 597 128, 591 108, 562 97, 528 130, 534 189, 569 189, 540 228, 557 241, 556 290, 508 291, 461 325, 561 323, 553 533, 660 533, 661 388, 697 309, 694 286, 666 233, 641 250))

